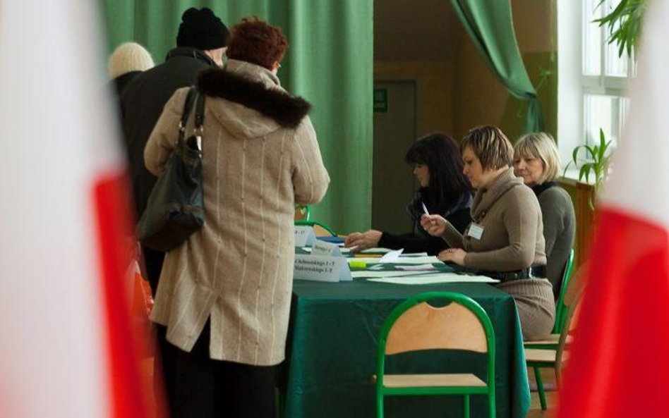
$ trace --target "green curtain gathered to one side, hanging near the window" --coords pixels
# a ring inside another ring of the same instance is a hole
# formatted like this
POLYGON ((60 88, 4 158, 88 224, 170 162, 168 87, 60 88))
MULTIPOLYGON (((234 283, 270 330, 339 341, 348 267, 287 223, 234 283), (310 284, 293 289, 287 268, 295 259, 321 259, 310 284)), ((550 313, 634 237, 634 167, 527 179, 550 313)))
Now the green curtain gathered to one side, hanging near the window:
POLYGON ((518 99, 527 102, 526 133, 544 129, 541 105, 525 69, 509 0, 451 0, 455 14, 493 73, 518 99))

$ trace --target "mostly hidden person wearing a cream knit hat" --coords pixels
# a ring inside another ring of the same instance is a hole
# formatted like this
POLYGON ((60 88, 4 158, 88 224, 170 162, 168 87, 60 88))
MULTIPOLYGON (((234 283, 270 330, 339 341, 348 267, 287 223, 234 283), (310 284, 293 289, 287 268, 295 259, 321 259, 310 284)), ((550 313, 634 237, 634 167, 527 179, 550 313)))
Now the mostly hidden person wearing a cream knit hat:
POLYGON ((116 47, 109 56, 107 65, 116 95, 121 97, 123 90, 135 77, 153 66, 155 63, 151 54, 140 44, 124 42, 116 47))

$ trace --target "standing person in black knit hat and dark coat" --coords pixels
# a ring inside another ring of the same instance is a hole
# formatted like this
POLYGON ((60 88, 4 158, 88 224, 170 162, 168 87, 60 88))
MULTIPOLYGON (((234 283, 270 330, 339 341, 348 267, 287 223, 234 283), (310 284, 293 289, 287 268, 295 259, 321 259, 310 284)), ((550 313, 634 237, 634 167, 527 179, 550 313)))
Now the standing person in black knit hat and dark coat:
MULTIPOLYGON (((210 8, 188 8, 181 16, 176 48, 159 66, 135 77, 121 94, 121 126, 125 137, 133 189, 135 215, 140 219, 157 178, 144 166, 144 148, 163 107, 181 88, 195 84, 200 70, 222 66, 229 31, 210 8)), ((143 247, 147 279, 156 294, 164 252, 143 247)), ((174 362, 179 350, 167 342, 164 326, 157 326, 159 355, 156 356, 167 394, 167 407, 174 411, 174 362)), ((155 374, 157 375, 157 374, 155 374)), ((159 380, 156 385, 162 385, 159 380)), ((162 392, 157 387, 158 391, 162 392)))

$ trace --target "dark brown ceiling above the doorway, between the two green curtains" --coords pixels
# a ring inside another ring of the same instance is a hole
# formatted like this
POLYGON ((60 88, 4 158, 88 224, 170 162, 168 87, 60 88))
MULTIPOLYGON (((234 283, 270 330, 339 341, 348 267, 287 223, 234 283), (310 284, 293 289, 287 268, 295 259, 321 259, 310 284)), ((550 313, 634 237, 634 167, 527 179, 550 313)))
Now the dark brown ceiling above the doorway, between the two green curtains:
POLYGON ((448 0, 374 0, 375 61, 447 61, 462 32, 448 0))

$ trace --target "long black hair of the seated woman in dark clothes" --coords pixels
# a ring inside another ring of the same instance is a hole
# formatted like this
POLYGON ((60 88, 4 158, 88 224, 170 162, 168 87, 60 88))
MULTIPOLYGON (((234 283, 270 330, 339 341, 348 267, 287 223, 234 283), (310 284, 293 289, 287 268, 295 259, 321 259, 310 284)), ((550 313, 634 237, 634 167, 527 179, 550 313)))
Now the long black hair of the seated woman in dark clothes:
POLYGON ((416 192, 411 206, 414 213, 422 213, 421 201, 431 211, 444 214, 471 193, 471 185, 462 173, 464 166, 457 143, 445 133, 430 133, 418 138, 404 160, 407 164, 426 164, 430 184, 416 192))

